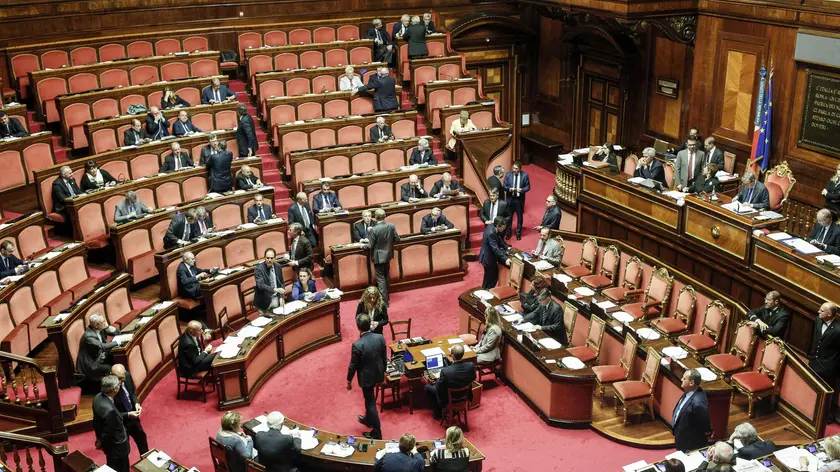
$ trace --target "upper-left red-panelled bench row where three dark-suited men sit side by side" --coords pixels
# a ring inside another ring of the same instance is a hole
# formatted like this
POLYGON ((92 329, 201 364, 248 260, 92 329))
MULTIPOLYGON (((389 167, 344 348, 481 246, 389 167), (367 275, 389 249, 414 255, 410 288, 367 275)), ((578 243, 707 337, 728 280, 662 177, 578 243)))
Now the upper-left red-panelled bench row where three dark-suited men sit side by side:
MULTIPOLYGON (((191 90, 197 91, 197 89, 191 90)), ((176 91, 176 93, 178 92, 176 91)), ((192 97, 185 98, 180 93, 179 96, 187 101, 192 99, 192 97)), ((162 113, 170 123, 175 123, 181 110, 186 110, 192 124, 204 132, 234 129, 239 123, 239 117, 236 114, 236 107, 239 105, 237 101, 217 103, 214 105, 201 105, 200 101, 195 103, 190 102, 190 104, 193 106, 188 108, 170 108, 168 110, 162 110, 162 113)), ((160 100, 158 99, 157 104, 153 106, 159 107, 160 100)), ((116 102, 109 105, 109 107, 112 108, 109 108, 108 112, 115 113, 100 115, 102 119, 86 121, 83 124, 88 146, 90 152, 93 154, 112 151, 125 146, 125 131, 131 127, 133 120, 140 120, 143 126, 145 126, 146 113, 120 115, 116 107, 116 102)), ((91 116, 96 118, 95 110, 91 116)), ((171 133, 172 127, 169 129, 171 133)), ((230 146, 228 146, 228 149, 230 149, 230 146)), ((233 151, 231 150, 231 152, 233 151)))

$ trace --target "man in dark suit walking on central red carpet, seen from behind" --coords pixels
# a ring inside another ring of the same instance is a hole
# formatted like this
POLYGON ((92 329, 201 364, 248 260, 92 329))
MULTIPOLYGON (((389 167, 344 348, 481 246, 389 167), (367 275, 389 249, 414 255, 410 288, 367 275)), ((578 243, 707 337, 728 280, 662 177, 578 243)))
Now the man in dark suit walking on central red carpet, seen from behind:
POLYGON ((385 380, 385 364, 388 362, 385 337, 370 332, 370 316, 367 314, 362 313, 356 317, 356 327, 359 328, 361 334, 350 350, 347 390, 353 389, 353 376, 356 375, 365 397, 365 414, 359 415, 359 422, 371 428, 370 432, 364 433, 364 436, 382 439, 382 425, 379 423, 379 413, 376 411, 375 387, 385 380))

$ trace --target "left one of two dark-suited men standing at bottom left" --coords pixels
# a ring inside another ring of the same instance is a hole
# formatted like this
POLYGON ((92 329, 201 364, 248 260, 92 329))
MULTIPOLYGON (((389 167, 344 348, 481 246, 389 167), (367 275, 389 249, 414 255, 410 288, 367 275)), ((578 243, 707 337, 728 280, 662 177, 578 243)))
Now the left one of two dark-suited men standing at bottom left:
POLYGON ((128 472, 128 431, 119 410, 114 404, 114 397, 119 392, 120 381, 114 375, 102 379, 101 392, 93 398, 93 430, 96 434, 96 446, 105 453, 108 467, 116 472, 128 472))

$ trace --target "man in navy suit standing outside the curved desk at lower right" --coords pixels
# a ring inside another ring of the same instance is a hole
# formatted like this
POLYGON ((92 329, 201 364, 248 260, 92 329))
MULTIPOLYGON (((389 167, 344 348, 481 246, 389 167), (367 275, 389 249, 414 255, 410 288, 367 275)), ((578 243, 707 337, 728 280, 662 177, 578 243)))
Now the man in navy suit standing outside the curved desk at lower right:
POLYGON ((679 451, 693 451, 709 443, 712 422, 709 419, 709 401, 700 388, 700 372, 686 370, 682 376, 683 395, 674 407, 674 440, 679 451))

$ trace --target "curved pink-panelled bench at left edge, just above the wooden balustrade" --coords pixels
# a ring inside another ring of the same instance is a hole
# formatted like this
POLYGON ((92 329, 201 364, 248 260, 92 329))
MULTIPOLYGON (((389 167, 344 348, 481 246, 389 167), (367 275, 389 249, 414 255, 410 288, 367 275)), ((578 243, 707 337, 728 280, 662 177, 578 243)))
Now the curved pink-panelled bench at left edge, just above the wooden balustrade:
POLYGON ((89 293, 96 279, 88 273, 85 253, 79 243, 69 243, 42 254, 43 261, 0 289, 0 349, 28 355, 47 332, 41 323, 89 293))

